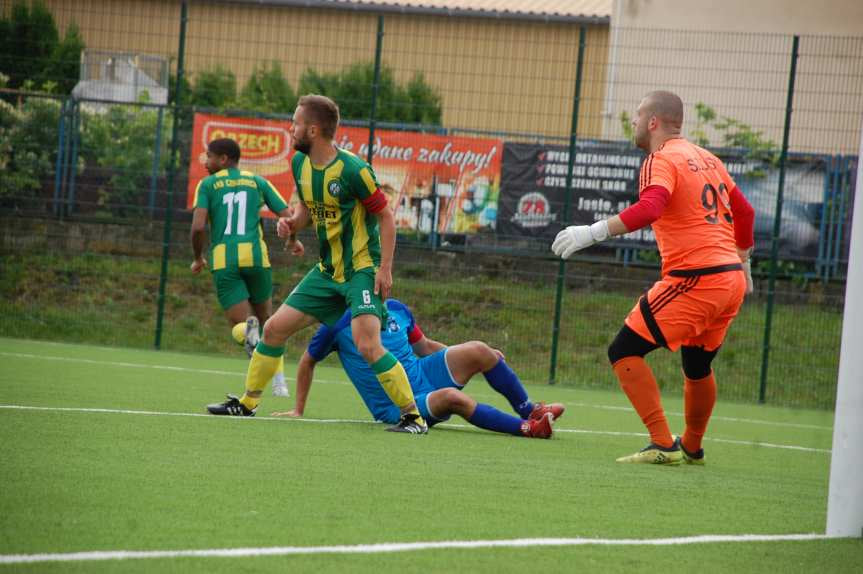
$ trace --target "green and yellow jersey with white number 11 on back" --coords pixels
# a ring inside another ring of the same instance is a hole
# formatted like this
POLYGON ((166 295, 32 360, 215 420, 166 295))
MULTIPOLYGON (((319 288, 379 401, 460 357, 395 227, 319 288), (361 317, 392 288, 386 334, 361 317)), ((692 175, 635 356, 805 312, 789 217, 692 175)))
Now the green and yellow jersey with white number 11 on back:
POLYGON ((287 207, 273 184, 250 171, 223 169, 198 183, 194 205, 210 219, 210 269, 270 266, 260 210, 287 207))

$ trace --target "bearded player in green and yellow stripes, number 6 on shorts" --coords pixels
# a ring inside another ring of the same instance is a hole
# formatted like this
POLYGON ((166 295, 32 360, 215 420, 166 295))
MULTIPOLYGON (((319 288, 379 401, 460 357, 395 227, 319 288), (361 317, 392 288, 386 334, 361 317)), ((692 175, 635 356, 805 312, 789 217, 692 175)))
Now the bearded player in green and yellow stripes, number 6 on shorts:
POLYGON ((291 125, 300 201, 291 216, 279 219, 277 230, 280 237, 289 237, 312 226, 320 262, 264 325, 242 398, 229 395, 226 402, 207 408, 213 414, 254 415, 288 337, 316 322, 335 325, 350 309, 357 349, 401 411, 399 423, 388 430, 425 434, 428 426, 405 370, 381 344, 383 300, 392 287, 395 220, 371 167, 333 145, 338 124, 339 108, 331 99, 300 98, 291 125))

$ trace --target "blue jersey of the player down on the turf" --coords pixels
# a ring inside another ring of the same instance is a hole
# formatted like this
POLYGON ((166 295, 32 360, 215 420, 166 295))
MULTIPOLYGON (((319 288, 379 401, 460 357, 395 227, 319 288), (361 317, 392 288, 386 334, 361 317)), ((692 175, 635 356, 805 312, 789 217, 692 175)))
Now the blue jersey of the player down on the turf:
MULTIPOLYGON (((412 343, 421 338, 422 331, 417 327, 410 309, 396 299, 387 299, 387 319, 381 331, 381 343, 402 364, 411 387, 416 392, 421 380, 420 359, 413 352, 412 343)), ((308 347, 309 355, 315 361, 323 361, 336 352, 348 378, 356 387, 366 407, 377 420, 392 407, 392 401, 381 387, 375 372, 366 363, 354 344, 351 333, 351 312, 345 311, 342 318, 332 327, 321 325, 308 347)))

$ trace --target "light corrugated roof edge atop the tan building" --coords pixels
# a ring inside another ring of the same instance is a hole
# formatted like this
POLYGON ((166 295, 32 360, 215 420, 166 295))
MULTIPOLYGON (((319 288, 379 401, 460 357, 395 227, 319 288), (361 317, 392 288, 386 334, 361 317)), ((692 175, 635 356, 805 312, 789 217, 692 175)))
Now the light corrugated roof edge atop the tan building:
POLYGON ((234 0, 306 8, 608 24, 613 0, 234 0))

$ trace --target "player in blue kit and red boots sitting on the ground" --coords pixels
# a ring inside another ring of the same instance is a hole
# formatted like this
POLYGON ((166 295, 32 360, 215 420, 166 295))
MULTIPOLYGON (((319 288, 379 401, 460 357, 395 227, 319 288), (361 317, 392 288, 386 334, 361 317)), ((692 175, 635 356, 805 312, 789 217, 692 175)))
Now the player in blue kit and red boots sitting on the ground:
MULTIPOLYGON (((472 425, 490 431, 531 438, 551 437, 551 423, 563 414, 563 405, 531 402, 518 376, 499 351, 480 341, 447 347, 426 337, 402 302, 389 299, 386 307, 388 316, 381 334, 382 342, 404 365, 417 406, 429 425, 457 414, 472 425), (518 417, 477 403, 463 392, 471 377, 479 373, 494 390, 506 397, 518 417)), ((333 327, 322 325, 312 337, 297 368, 296 407, 274 414, 303 416, 315 364, 332 352, 338 354, 345 373, 375 420, 398 421, 399 408, 383 392, 375 373, 357 351, 349 312, 333 327)))

